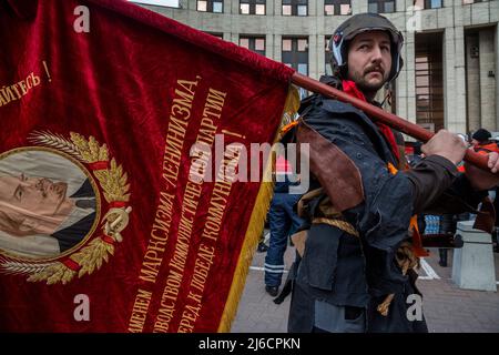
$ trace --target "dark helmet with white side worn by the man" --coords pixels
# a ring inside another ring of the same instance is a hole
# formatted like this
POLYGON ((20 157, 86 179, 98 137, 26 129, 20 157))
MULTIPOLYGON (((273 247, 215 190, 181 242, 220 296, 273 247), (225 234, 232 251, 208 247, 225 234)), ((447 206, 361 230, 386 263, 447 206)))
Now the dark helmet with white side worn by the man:
POLYGON ((329 40, 329 49, 332 51, 330 65, 333 73, 340 79, 346 78, 347 73, 347 58, 348 43, 357 34, 366 31, 386 31, 390 37, 391 42, 391 70, 388 77, 388 82, 397 78, 404 61, 400 55, 400 50, 404 44, 404 37, 395 26, 385 17, 377 13, 357 13, 343 22, 333 33, 329 40))

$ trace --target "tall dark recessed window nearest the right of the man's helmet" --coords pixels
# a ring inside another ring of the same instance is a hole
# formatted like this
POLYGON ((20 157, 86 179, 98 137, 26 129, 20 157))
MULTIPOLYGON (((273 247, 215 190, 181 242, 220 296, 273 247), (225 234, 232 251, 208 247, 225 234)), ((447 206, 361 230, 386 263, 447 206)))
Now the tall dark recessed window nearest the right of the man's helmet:
POLYGON ((416 122, 444 128, 442 33, 416 34, 416 122))

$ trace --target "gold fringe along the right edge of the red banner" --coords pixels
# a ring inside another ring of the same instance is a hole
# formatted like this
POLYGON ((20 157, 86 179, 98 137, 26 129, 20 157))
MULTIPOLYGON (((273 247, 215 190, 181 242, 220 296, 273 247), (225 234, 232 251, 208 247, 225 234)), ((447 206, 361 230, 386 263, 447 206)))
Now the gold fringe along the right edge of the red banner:
MULTIPOLYGON (((299 106, 299 95, 295 87, 289 85, 286 102, 284 104, 282 122, 288 123, 293 112, 296 112, 299 106)), ((281 140, 281 132, 277 130, 274 143, 281 140)), ((228 292, 227 301, 225 302, 224 312, 218 324, 218 333, 227 333, 231 331, 232 322, 237 312, 241 296, 243 294, 244 286, 246 284, 246 276, 249 270, 249 265, 253 261, 253 256, 258 244, 259 237, 264 230, 265 219, 267 216, 268 209, 271 206, 271 200, 274 195, 274 183, 272 179, 273 159, 268 159, 267 166, 265 166, 263 182, 259 186, 258 194, 256 196, 255 206, 253 207, 249 224, 244 236, 243 246, 241 248, 237 265, 232 280, 231 290, 228 292), (266 182, 269 181, 269 182, 266 182)))

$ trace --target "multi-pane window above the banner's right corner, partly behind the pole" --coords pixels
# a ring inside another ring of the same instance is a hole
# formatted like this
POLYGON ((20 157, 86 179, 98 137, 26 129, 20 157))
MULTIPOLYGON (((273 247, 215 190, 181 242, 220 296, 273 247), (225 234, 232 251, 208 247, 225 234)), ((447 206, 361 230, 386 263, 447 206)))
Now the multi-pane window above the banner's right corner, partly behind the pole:
MULTIPOLYGON (((283 63, 295 69, 298 73, 308 75, 308 38, 283 38, 283 63)), ((299 97, 308 94, 299 88, 299 97)))

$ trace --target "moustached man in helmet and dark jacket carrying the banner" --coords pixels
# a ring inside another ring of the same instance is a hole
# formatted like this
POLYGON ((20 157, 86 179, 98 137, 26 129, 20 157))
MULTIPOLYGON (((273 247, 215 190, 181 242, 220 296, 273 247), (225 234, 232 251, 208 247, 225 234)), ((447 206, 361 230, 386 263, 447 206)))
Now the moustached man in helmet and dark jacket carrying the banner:
MULTIPOLYGON (((377 104, 377 91, 401 69, 403 41, 386 18, 353 16, 332 38, 334 77, 322 81, 377 104)), ((301 114, 294 136, 309 144, 313 179, 298 203, 307 222, 296 234, 304 247, 294 239, 302 260, 288 329, 427 332, 415 286, 425 250, 414 216, 471 210, 498 178, 471 165, 458 174, 466 146, 445 130, 422 146, 426 158, 405 170, 401 134, 353 105, 314 94, 301 114), (408 312, 413 305, 419 312, 408 312)), ((488 166, 497 172, 497 153, 488 166)))

